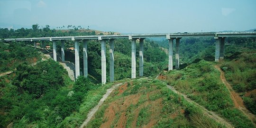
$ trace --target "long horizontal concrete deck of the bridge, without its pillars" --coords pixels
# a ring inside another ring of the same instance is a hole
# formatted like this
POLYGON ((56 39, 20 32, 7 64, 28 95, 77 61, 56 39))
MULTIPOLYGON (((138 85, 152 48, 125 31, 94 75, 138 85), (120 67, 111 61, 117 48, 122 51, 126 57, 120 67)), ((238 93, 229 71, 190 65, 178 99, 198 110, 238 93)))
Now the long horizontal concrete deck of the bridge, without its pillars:
POLYGON ((75 37, 34 37, 34 38, 10 38, 3 41, 43 41, 43 40, 86 40, 86 39, 136 39, 148 37, 256 37, 256 32, 201 32, 201 33, 165 33, 165 34, 132 34, 132 35, 95 35, 95 36, 75 36, 75 37))

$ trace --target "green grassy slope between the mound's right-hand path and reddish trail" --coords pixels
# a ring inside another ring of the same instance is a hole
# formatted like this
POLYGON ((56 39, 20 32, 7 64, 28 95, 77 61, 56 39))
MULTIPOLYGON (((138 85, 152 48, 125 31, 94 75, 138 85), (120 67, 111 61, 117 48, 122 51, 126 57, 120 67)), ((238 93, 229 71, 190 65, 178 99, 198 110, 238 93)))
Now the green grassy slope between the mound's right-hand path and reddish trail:
POLYGON ((202 60, 182 70, 174 70, 162 75, 163 81, 187 94, 206 109, 228 119, 234 127, 254 127, 252 122, 234 107, 228 89, 220 81, 219 71, 214 68, 214 63, 202 60))

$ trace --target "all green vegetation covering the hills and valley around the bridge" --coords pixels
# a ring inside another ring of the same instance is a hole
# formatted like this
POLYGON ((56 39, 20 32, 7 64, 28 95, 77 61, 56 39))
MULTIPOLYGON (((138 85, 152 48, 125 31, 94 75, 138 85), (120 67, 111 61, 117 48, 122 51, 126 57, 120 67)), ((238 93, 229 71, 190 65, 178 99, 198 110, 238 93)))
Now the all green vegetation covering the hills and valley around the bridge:
MULTIPOLYGON (((39 29, 38 25, 33 25, 32 29, 0 28, 1 39, 95 34, 92 30, 60 31, 50 29, 49 26, 39 29)), ((225 60, 220 63, 214 62, 214 42, 213 38, 182 38, 180 44, 181 70, 165 73, 161 71, 167 68, 167 40, 154 41, 146 39, 144 43, 144 75, 148 78, 155 78, 153 76, 161 72, 161 75, 166 78, 161 81, 187 94, 189 98, 204 106, 207 110, 218 113, 221 117, 231 122, 234 127, 254 127, 241 111, 234 108, 234 104, 228 95, 229 92, 224 84, 220 82, 219 72, 214 68, 214 65, 219 64, 221 70, 225 72, 228 82, 236 92, 239 92, 247 109, 256 114, 256 38, 226 38, 226 43, 229 45, 225 46, 225 60)), ((50 41, 46 41, 45 44, 52 46, 50 41)), ((70 80, 67 71, 60 64, 52 59, 43 60, 42 52, 27 45, 32 44, 31 42, 0 43, 0 73, 13 71, 8 75, 0 76, 0 127, 5 128, 7 125, 14 128, 79 127, 86 119, 89 110, 97 105, 106 90, 114 84, 108 83, 104 86, 100 84, 101 43, 96 40, 88 42, 90 77, 84 78, 80 76, 75 82, 70 80)), ((73 45, 72 41, 65 42, 65 60, 74 63, 73 51, 68 50, 73 45)), ((57 41, 58 53, 60 53, 60 46, 61 42, 57 41)), ((80 47, 82 47, 82 43, 80 43, 80 47)), ((130 41, 116 39, 114 47, 115 80, 117 80, 116 82, 128 81, 127 78, 131 76, 130 41)), ((136 49, 138 69, 138 43, 136 49)), ((109 51, 107 50, 107 74, 109 72, 108 54, 109 51)), ((80 48, 80 63, 81 71, 83 71, 82 48, 80 48)), ((162 109, 167 110, 167 113, 162 111, 162 117, 160 118, 159 116, 159 119, 163 120, 157 123, 158 128, 174 126, 196 127, 200 126, 199 124, 202 123, 200 121, 203 119, 209 123, 208 127, 223 127, 219 123, 202 116, 197 107, 191 106, 184 99, 181 100, 181 97, 172 91, 167 91, 162 82, 151 81, 147 83, 139 80, 129 84, 134 85, 129 85, 124 94, 117 95, 118 92, 114 92, 113 99, 114 96, 117 96, 116 99, 118 99, 122 96, 137 93, 146 97, 147 93, 151 94, 154 89, 155 91, 158 90, 159 93, 154 93, 152 97, 149 96, 148 101, 153 102, 158 98, 163 98, 162 109), (141 85, 141 83, 143 84, 141 85), (178 118, 167 118, 164 115, 174 112, 168 106, 178 107, 180 110, 185 110, 185 112, 179 113, 178 118), (168 123, 173 123, 173 125, 170 126, 168 123)), ((140 106, 142 108, 145 107, 139 111, 137 127, 142 127, 149 122, 146 117, 150 116, 147 113, 150 110, 146 109, 146 106, 143 105, 144 102, 146 103, 147 101, 141 101, 139 102, 140 104, 137 104, 138 106, 142 105, 140 106)), ((102 116, 107 106, 107 104, 103 105, 97 115, 99 119, 94 119, 89 124, 90 126, 101 125, 101 122, 104 121, 102 116)), ((147 107, 150 108, 150 106, 147 107)), ((136 106, 131 105, 127 111, 128 116, 131 116, 131 120, 132 114, 134 114, 131 111, 134 110, 136 110, 136 106)), ((154 112, 152 111, 151 113, 154 112)), ((127 124, 127 126, 131 126, 131 124, 127 124)))

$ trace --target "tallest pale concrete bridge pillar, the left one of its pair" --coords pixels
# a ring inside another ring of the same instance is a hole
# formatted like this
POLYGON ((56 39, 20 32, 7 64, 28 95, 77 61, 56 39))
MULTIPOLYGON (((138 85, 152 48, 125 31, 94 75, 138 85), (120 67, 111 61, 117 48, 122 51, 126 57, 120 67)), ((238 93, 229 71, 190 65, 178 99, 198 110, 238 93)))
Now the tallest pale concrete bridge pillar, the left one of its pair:
POLYGON ((101 83, 105 84, 106 79, 106 41, 101 40, 101 83))

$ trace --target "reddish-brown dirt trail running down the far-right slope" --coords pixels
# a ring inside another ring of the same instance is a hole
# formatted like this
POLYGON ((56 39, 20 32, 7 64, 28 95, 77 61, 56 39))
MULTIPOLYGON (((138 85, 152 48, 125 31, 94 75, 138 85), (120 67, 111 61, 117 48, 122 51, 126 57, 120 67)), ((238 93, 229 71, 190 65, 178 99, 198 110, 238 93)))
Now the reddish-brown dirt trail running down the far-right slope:
POLYGON ((225 73, 219 68, 219 65, 215 65, 214 67, 219 70, 220 79, 228 88, 230 97, 231 97, 232 101, 234 102, 235 107, 238 108, 239 110, 241 110, 248 117, 248 119, 250 119, 252 121, 252 123, 256 127, 256 123, 255 123, 256 116, 253 115, 249 110, 247 110, 247 108, 244 105, 243 99, 238 95, 238 93, 236 93, 233 90, 233 88, 230 86, 229 82, 227 82, 227 80, 225 78, 225 73))

